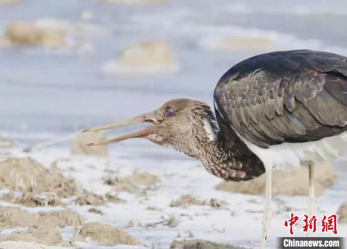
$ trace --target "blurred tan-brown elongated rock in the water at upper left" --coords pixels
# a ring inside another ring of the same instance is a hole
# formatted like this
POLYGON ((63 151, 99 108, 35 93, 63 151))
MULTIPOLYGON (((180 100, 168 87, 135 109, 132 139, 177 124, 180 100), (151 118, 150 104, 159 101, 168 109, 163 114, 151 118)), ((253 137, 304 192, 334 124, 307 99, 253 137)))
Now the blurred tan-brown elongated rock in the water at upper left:
POLYGON ((58 29, 42 28, 29 22, 15 22, 7 27, 6 37, 22 46, 60 47, 65 45, 66 34, 58 29))

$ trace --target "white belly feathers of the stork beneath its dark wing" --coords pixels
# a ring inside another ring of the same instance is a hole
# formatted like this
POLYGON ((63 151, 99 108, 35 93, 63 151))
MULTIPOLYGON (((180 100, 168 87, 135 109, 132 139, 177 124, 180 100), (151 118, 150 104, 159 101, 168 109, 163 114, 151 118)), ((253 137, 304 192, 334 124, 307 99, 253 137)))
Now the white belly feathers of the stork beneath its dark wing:
POLYGON ((347 132, 305 143, 283 143, 264 149, 239 138, 263 161, 266 168, 300 166, 308 161, 326 161, 347 155, 347 132))

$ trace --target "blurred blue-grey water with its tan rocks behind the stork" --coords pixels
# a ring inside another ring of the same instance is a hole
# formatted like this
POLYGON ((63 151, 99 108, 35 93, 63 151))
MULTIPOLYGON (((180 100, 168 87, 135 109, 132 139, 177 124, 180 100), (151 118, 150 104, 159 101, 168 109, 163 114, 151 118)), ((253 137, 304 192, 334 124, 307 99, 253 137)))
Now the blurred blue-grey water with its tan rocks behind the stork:
POLYGON ((0 0, 0 131, 68 133, 177 97, 211 104, 252 55, 346 55, 346 23, 345 0, 0 0))

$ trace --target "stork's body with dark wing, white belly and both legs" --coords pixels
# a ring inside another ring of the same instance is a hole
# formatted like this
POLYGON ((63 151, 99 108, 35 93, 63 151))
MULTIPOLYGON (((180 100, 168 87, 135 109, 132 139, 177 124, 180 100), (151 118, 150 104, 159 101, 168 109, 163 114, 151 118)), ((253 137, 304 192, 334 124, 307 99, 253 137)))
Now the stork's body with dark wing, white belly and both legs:
POLYGON ((264 163, 264 248, 272 218, 272 168, 309 166, 312 215, 314 164, 347 154, 347 58, 294 50, 246 59, 222 76, 215 108, 217 118, 264 163))

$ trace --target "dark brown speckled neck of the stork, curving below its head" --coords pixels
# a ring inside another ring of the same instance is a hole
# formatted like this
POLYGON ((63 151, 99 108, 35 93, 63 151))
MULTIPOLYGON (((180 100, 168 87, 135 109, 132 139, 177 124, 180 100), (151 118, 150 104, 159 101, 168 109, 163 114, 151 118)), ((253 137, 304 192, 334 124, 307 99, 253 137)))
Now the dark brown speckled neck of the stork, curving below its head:
POLYGON ((247 181, 265 172, 262 161, 233 133, 221 132, 213 119, 202 119, 196 157, 212 174, 228 181, 247 181))

